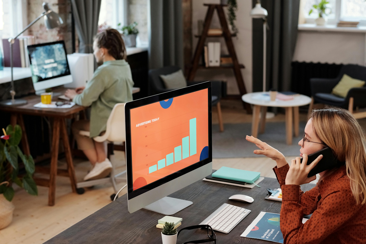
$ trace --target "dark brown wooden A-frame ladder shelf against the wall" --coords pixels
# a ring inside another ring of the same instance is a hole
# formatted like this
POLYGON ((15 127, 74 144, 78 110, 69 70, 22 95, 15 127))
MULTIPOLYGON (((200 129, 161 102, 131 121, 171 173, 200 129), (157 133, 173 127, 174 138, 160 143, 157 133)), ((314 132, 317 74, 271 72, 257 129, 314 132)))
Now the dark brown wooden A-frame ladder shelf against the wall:
MULTIPOLYGON (((240 94, 244 95, 247 93, 247 91, 244 86, 244 79, 242 76, 242 72, 240 71, 241 68, 244 68, 244 65, 239 64, 238 58, 236 57, 234 44, 232 43, 231 38, 232 38, 232 36, 235 36, 235 34, 231 34, 229 31, 229 27, 228 27, 228 24, 227 24, 227 21, 225 18, 225 14, 224 14, 224 9, 223 9, 223 7, 227 6, 227 5, 224 5, 224 4, 203 4, 203 5, 208 6, 208 10, 206 13, 202 34, 196 35, 196 37, 199 37, 199 41, 196 46, 196 50, 194 52, 193 60, 191 63, 191 68, 188 72, 188 80, 194 79, 194 76, 196 75, 198 68, 206 68, 206 67, 200 66, 198 64, 199 59, 202 54, 203 46, 205 45, 206 38, 222 36, 225 39, 226 46, 228 48, 229 55, 231 56, 233 65, 232 66, 207 67, 207 68, 211 68, 211 69, 212 68, 216 68, 216 69, 217 68, 232 68, 234 71, 235 78, 236 78, 236 83, 238 83, 240 94), (208 35, 208 30, 210 28, 213 12, 215 9, 217 10, 217 14, 219 15, 220 25, 223 29, 222 35, 208 35)), ((244 103, 244 102, 243 102, 243 105, 244 105, 244 108, 247 110, 247 113, 251 113, 250 105, 247 103, 244 103)))

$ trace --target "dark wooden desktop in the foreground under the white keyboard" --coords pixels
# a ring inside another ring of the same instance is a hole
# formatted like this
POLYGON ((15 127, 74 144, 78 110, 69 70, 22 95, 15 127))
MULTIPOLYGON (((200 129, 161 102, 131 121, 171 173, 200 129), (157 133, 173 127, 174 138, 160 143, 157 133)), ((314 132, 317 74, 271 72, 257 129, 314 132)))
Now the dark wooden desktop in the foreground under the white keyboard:
MULTIPOLYGON (((240 237, 240 234, 244 232, 261 211, 280 213, 280 202, 264 199, 267 194, 267 188, 279 187, 277 180, 265 177, 259 185, 261 185, 261 188, 254 187, 249 189, 199 180, 169 195, 193 202, 191 206, 173 215, 183 218, 182 225, 178 227, 178 230, 183 227, 198 225, 223 203, 229 203, 250 209, 251 213, 229 234, 215 232, 216 243, 268 244, 268 241, 240 237), (244 203, 228 200, 230 196, 235 194, 249 195, 254 198, 254 202, 244 203)), ((314 184, 305 184, 302 185, 302 190, 306 191, 314 186, 314 184)), ((156 228, 156 224, 158 219, 163 216, 163 214, 145 209, 129 214, 127 210, 127 194, 125 194, 45 243, 158 244, 161 243, 161 234, 160 229, 156 228)), ((207 237, 207 232, 203 230, 187 230, 179 235, 177 243, 181 244, 189 240, 205 239, 205 237, 207 237)))

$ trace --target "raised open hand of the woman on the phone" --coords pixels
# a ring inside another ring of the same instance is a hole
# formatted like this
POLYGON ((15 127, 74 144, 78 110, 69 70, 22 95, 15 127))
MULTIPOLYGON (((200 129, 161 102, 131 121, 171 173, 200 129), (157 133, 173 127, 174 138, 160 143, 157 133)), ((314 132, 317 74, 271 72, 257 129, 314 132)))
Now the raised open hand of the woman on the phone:
POLYGON ((247 135, 245 139, 248 142, 254 143, 255 146, 261 149, 261 150, 254 150, 255 154, 262 154, 275 160, 277 162, 277 168, 280 168, 285 164, 287 164, 285 156, 279 150, 269 146, 267 143, 262 142, 261 140, 253 136, 247 135))

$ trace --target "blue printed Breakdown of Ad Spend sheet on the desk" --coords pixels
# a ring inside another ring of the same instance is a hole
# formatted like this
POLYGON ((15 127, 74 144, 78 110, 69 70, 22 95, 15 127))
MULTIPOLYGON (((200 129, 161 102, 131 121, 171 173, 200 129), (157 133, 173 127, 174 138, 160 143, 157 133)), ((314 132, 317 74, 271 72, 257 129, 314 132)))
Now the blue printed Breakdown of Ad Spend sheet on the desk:
MULTIPOLYGON (((302 223, 305 223, 307 220, 303 218, 302 223)), ((261 212, 240 236, 283 243, 283 235, 280 230, 280 215, 261 212)))

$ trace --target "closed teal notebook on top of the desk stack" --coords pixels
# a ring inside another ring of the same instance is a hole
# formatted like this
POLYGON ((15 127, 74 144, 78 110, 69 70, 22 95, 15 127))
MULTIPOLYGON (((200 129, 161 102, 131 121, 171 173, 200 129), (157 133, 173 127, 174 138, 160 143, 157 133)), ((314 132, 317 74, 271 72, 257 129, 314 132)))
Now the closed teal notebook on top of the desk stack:
POLYGON ((237 180, 246 183, 253 184, 254 181, 258 180, 261 173, 242 170, 242 169, 233 169, 229 167, 221 167, 219 170, 216 170, 212 173, 212 177, 227 179, 227 180, 237 180))

